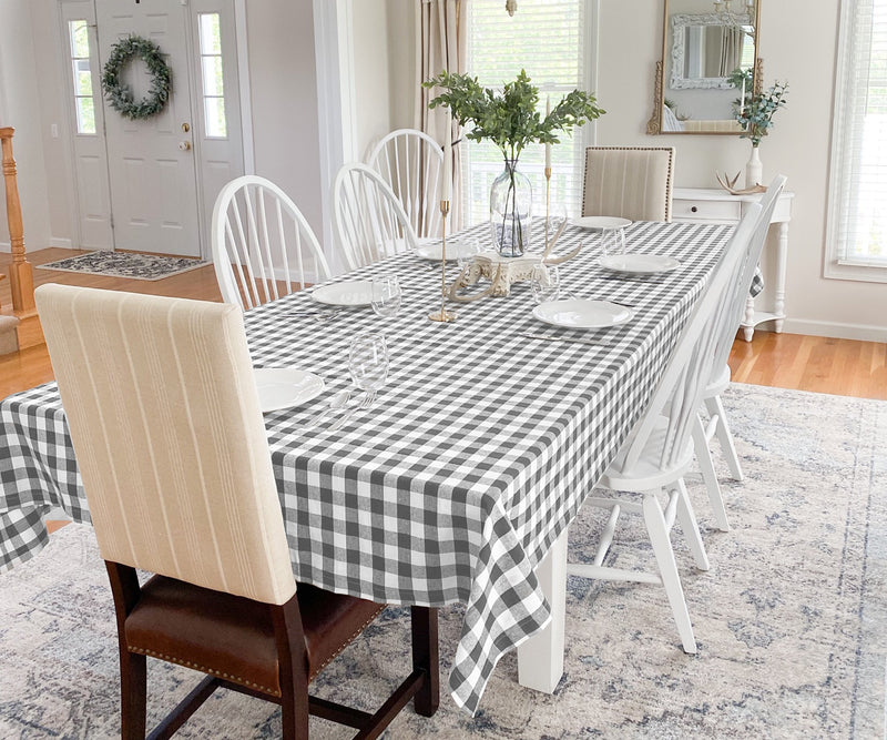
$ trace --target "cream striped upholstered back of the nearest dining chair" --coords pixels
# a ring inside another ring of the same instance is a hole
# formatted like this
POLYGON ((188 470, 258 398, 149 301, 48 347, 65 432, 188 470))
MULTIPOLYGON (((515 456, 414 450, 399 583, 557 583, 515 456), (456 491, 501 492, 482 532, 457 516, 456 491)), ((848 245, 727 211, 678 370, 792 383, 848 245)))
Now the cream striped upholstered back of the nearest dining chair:
POLYGON ((296 590, 241 307, 42 285, 102 557, 266 604, 296 590))

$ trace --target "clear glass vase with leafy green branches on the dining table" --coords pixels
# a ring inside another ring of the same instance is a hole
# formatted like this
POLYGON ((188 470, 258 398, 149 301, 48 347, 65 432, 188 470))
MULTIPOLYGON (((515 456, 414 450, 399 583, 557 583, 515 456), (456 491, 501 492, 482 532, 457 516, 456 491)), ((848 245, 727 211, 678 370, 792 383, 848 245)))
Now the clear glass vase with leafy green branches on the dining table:
POLYGON ((542 116, 539 89, 523 70, 501 92, 483 88, 477 78, 446 70, 422 84, 443 91, 429 107, 448 107, 459 125, 467 126, 467 139, 488 139, 502 152, 504 171, 490 191, 490 217, 500 254, 522 255, 530 237, 532 191, 530 181, 517 169, 521 152, 537 142, 557 144, 558 132, 569 133, 605 111, 595 105, 594 95, 573 90, 542 116))

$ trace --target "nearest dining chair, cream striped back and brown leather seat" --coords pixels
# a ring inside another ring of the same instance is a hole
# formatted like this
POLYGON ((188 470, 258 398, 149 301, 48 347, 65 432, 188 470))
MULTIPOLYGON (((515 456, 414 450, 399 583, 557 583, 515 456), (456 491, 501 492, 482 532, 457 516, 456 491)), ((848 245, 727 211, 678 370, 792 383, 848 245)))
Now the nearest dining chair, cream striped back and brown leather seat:
POLYGON ((243 313, 231 304, 42 285, 35 292, 118 619, 122 736, 145 736, 145 657, 207 673, 152 737, 217 687, 376 737, 438 703, 437 615, 412 609, 414 671, 374 716, 308 697, 384 606, 293 578, 243 313), (135 568, 155 574, 140 586, 135 568))

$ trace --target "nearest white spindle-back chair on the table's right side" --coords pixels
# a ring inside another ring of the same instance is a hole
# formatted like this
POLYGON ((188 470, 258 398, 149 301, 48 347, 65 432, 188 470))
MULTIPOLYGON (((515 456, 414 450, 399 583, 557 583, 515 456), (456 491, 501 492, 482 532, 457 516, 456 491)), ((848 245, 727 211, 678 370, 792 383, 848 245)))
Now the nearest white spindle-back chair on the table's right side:
POLYGON ((724 256, 677 339, 646 412, 600 480, 601 488, 638 494, 642 500, 639 503, 636 498, 624 496, 589 496, 585 505, 610 509, 610 517, 591 561, 567 566, 568 574, 583 578, 664 586, 681 643, 691 653, 696 652, 696 640, 670 533, 676 518, 696 567, 708 569, 708 558, 684 485, 684 475, 693 463, 692 428, 708 381, 715 330, 720 325, 721 314, 730 308, 723 295, 737 280, 758 210, 757 204, 752 205, 725 247, 724 256), (664 508, 660 503, 662 495, 666 497, 664 508), (643 515, 656 560, 655 572, 604 565, 622 511, 643 515))

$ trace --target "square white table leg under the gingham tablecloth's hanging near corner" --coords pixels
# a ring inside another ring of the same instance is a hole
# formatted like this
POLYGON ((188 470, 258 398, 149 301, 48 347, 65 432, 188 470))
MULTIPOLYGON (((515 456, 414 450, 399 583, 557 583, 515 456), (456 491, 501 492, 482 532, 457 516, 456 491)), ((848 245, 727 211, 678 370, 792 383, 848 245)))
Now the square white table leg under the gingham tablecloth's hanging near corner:
POLYGON ((567 529, 554 540, 548 555, 539 564, 536 577, 551 607, 551 622, 518 646, 518 682, 528 689, 552 693, 563 676, 567 529))

